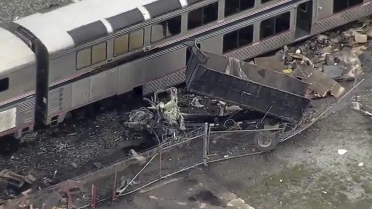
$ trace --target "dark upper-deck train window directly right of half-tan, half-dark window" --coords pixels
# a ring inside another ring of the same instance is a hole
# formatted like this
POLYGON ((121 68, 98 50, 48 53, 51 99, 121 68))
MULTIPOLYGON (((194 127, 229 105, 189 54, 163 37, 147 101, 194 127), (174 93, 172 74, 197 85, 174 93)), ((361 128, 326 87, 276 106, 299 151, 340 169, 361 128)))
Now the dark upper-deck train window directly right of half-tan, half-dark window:
POLYGON ((218 2, 192 10, 187 15, 187 29, 191 30, 206 25, 218 18, 218 2))

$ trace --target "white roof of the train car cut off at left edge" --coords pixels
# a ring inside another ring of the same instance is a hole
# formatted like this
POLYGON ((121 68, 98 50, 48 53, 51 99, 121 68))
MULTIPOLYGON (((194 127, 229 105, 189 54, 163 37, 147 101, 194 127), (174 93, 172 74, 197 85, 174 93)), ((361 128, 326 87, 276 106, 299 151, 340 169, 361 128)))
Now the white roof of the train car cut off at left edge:
POLYGON ((36 61, 29 46, 4 28, 0 28, 0 50, 0 74, 36 61))

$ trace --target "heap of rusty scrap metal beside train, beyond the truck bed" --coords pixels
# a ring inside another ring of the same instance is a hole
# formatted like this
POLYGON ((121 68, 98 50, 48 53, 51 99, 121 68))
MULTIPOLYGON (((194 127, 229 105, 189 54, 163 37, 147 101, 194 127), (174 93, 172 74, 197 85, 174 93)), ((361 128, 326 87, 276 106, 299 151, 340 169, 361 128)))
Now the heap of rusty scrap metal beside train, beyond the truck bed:
POLYGON ((371 61, 369 21, 363 20, 359 28, 315 36, 300 46, 285 46, 271 57, 255 58, 253 63, 309 83, 308 99, 328 94, 338 98, 345 91, 339 82, 360 77, 362 65, 371 61))

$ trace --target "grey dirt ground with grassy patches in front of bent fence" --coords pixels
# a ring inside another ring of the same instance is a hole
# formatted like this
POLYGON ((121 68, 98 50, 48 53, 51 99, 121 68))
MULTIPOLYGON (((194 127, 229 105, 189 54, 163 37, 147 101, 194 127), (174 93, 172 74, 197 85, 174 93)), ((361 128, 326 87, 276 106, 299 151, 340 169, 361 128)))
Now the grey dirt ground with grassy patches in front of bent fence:
MULTIPOLYGON (((371 110, 371 71, 365 73, 358 98, 371 110)), ((269 154, 185 171, 103 208, 370 209, 372 118, 350 102, 269 154)))

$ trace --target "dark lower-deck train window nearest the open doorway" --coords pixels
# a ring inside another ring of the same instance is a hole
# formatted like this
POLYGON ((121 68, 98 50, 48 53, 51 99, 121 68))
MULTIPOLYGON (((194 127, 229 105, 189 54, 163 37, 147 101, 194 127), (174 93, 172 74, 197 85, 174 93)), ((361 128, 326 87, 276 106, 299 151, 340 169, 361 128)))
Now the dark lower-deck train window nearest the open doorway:
POLYGON ((291 22, 290 20, 290 12, 263 20, 260 25, 260 39, 288 30, 291 22))

